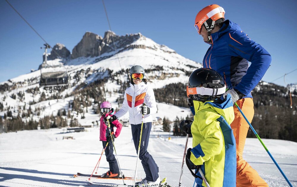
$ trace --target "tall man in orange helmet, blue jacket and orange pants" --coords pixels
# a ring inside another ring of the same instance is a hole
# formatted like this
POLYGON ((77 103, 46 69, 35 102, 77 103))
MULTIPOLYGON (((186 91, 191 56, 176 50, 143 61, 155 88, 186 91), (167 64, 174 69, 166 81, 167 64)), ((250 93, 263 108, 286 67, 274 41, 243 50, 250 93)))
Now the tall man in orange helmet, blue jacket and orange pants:
MULTIPOLYGON (((195 28, 204 42, 211 46, 207 50, 203 67, 217 70, 225 79, 233 103, 237 103, 249 122, 254 116, 251 91, 264 76, 270 63, 270 54, 254 42, 241 28, 225 20, 225 10, 217 4, 209 5, 198 12, 195 28), (249 66, 249 62, 251 65, 249 66)), ((230 124, 236 140, 238 186, 268 186, 242 157, 249 125, 234 106, 235 119, 230 124)))

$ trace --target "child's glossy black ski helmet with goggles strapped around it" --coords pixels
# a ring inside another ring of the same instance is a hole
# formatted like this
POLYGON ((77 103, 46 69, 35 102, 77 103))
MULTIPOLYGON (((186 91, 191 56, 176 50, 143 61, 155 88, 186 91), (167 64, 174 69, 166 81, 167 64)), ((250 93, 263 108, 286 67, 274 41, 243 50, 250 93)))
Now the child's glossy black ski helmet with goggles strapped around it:
POLYGON ((226 91, 222 76, 215 70, 199 68, 189 77, 187 96, 196 101, 216 100, 226 91))

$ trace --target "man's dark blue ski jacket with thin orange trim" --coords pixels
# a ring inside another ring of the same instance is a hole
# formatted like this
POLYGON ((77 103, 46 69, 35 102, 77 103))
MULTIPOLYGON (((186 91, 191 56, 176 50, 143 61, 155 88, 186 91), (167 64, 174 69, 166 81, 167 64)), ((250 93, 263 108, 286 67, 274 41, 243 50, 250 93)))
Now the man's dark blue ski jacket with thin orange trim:
POLYGON ((252 97, 250 92, 270 66, 270 54, 230 20, 224 21, 222 28, 211 34, 211 39, 203 67, 219 72, 228 89, 235 88, 246 97, 252 97))

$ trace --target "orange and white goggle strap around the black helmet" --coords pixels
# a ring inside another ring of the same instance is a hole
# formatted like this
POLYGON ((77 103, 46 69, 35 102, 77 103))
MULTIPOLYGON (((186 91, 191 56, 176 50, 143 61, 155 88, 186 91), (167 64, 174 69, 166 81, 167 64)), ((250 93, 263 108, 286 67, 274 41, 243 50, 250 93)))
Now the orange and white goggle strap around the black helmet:
POLYGON ((220 95, 225 93, 226 91, 226 85, 223 88, 204 88, 204 87, 195 87, 195 88, 189 88, 187 86, 187 96, 190 98, 190 95, 196 95, 200 94, 202 96, 213 96, 214 92, 216 92, 216 95, 220 95))

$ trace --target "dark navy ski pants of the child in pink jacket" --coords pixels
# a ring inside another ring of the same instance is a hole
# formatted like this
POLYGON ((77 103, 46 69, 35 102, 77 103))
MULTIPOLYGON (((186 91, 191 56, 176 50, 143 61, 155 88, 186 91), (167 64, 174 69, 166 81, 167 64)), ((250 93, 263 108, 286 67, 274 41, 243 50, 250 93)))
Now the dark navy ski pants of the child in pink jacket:
MULTIPOLYGON (((103 144, 103 148, 105 148, 107 141, 102 141, 102 144, 103 144)), ((105 156, 106 156, 106 160, 109 163, 109 170, 112 173, 120 173, 118 162, 116 161, 116 158, 113 155, 112 141, 109 141, 107 148, 105 149, 105 156)))

